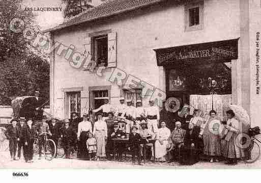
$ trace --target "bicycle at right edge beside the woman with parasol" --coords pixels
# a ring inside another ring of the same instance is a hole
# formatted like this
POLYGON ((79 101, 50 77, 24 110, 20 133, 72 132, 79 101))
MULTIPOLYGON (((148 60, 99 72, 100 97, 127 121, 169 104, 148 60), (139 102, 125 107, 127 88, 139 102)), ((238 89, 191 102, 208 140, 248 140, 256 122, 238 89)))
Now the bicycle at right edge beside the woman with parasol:
POLYGON ((245 137, 246 139, 243 140, 242 143, 243 146, 247 145, 247 148, 243 148, 246 156, 241 157, 242 161, 244 161, 245 163, 254 163, 260 157, 260 146, 257 142, 261 144, 261 141, 255 138, 255 135, 260 134, 260 129, 257 127, 255 128, 249 129, 249 136, 245 137))

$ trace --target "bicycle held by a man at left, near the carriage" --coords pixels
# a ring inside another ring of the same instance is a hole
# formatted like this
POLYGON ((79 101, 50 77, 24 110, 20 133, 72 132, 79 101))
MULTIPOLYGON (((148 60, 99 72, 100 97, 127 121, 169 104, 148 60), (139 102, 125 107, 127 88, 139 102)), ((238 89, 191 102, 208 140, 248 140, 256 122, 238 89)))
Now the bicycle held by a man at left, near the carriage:
MULTIPOLYGON (((55 153, 56 153, 56 145, 53 140, 47 138, 47 134, 50 135, 47 132, 43 132, 43 133, 39 134, 38 137, 43 136, 43 138, 44 138, 44 146, 43 146, 44 156, 45 156, 46 160, 51 161, 54 158, 55 153)), ((38 143, 37 145, 39 148, 39 139, 38 139, 37 143, 38 143)))

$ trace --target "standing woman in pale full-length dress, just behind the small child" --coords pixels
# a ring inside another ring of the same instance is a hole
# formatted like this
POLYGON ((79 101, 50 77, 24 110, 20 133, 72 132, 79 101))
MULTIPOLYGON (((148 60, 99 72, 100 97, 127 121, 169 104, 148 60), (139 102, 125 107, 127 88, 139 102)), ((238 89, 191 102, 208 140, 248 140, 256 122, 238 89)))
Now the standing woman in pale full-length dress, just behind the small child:
POLYGON ((99 161, 100 158, 106 156, 107 124, 102 119, 102 114, 98 114, 98 121, 94 123, 93 134, 97 142, 97 161, 99 161))

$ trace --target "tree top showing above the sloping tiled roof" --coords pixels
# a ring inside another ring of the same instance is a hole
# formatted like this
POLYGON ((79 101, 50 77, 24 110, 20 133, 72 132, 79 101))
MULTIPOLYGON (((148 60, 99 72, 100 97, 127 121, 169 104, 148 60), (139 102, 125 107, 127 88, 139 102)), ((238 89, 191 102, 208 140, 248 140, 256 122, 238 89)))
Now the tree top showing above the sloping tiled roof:
POLYGON ((92 0, 62 0, 62 2, 66 5, 63 12, 64 18, 70 18, 89 8, 93 8, 93 6, 89 4, 92 3, 92 0))

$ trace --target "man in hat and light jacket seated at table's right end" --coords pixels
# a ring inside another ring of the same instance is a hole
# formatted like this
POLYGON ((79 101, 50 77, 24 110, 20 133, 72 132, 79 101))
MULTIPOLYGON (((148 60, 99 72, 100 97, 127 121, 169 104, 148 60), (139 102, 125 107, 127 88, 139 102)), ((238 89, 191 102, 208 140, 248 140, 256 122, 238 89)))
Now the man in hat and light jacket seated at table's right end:
MULTIPOLYGON (((142 120, 140 122, 139 135, 142 138, 142 142, 148 141, 148 139, 152 138, 152 132, 151 132, 151 130, 148 129, 147 122, 145 120, 142 120)), ((141 154, 143 154, 143 144, 140 144, 140 146, 142 147, 141 154)), ((153 160, 154 159, 154 157, 152 156, 153 155, 153 144, 147 143, 146 146, 148 146, 151 149, 150 153, 147 153, 148 155, 146 155, 146 158, 153 160)))

